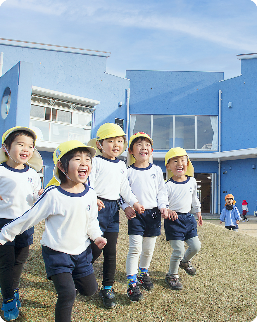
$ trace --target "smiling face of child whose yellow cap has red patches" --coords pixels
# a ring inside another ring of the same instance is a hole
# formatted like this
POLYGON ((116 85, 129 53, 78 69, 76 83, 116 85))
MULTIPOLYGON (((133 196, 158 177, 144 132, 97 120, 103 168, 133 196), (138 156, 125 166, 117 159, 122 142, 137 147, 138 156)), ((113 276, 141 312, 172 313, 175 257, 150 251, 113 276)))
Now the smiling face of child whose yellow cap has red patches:
MULTIPOLYGON (((133 142, 132 142, 133 143, 133 142)), ((129 153, 133 154, 135 161, 135 166, 140 164, 146 164, 148 166, 149 157, 152 155, 153 148, 151 146, 150 140, 148 138, 138 138, 138 140, 129 147, 129 153)))

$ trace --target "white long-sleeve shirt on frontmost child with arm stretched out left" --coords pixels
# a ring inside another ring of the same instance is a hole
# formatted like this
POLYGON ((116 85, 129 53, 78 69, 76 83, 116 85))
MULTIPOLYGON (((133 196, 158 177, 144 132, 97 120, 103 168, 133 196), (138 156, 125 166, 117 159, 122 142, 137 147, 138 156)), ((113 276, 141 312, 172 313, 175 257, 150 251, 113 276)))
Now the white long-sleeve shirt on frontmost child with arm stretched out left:
POLYGON ((95 191, 87 185, 80 194, 51 185, 30 210, 2 228, 0 243, 13 241, 16 235, 45 219, 40 243, 55 251, 79 255, 89 246, 89 237, 94 241, 102 235, 96 199, 95 191))

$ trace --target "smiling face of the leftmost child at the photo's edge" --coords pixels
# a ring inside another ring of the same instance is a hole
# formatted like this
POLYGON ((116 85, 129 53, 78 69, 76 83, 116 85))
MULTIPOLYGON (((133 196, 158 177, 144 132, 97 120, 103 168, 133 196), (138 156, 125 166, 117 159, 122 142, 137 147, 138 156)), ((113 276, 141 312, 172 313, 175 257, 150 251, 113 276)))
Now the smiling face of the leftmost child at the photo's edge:
MULTIPOLYGON (((6 164, 13 168, 24 168, 23 164, 29 161, 33 155, 33 143, 34 141, 31 137, 18 135, 8 150, 8 153, 13 160, 8 156, 6 164)), ((6 151, 5 147, 4 151, 6 151)))

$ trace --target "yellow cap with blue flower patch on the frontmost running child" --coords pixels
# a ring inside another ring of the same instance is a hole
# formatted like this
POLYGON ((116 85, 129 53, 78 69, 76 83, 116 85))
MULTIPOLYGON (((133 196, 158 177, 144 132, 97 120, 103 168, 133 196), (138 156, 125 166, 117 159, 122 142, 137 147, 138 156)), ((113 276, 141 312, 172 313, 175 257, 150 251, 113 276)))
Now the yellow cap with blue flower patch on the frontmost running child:
POLYGON ((57 167, 57 161, 61 159, 62 156, 64 156, 67 152, 74 150, 78 147, 86 147, 91 156, 95 156, 96 154, 96 149, 94 147, 90 147, 85 145, 84 143, 81 143, 80 141, 77 140, 71 140, 71 141, 66 141, 58 145, 58 147, 54 150, 53 152, 53 163, 55 164, 53 168, 53 177, 52 179, 48 182, 46 187, 49 187, 50 185, 60 185, 61 180, 59 178, 58 174, 58 167, 57 167))

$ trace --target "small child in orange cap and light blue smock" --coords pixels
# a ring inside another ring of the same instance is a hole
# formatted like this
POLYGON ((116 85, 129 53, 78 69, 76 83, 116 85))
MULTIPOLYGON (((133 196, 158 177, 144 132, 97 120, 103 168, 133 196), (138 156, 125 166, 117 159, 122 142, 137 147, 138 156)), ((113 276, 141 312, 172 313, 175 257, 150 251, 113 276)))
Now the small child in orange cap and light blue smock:
POLYGON ((233 232, 238 232, 238 224, 242 218, 235 203, 233 194, 227 194, 225 197, 225 207, 220 214, 220 224, 225 223, 225 228, 229 230, 232 228, 233 232))

